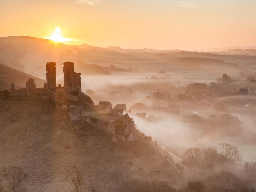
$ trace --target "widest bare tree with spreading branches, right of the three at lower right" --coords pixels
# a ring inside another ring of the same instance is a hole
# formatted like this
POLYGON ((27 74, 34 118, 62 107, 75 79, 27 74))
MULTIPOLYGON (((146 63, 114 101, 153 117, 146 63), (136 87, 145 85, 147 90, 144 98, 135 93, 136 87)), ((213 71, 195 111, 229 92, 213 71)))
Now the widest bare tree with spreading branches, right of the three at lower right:
POLYGON ((229 160, 231 162, 241 160, 241 156, 236 145, 231 145, 226 142, 219 143, 218 145, 222 148, 222 151, 219 154, 220 163, 223 163, 225 160, 229 160))

